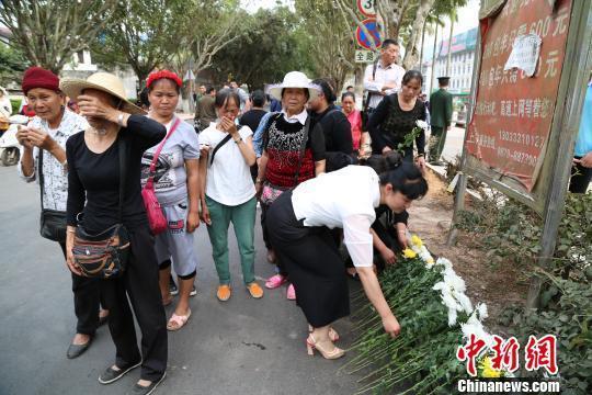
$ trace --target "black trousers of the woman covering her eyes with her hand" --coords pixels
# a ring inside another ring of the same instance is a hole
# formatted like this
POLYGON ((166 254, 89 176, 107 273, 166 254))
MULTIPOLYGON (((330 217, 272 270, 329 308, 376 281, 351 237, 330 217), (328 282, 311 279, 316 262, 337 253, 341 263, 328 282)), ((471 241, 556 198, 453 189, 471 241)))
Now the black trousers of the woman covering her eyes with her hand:
POLYGON ((115 364, 124 366, 143 360, 140 377, 153 382, 164 373, 168 358, 167 318, 158 285, 155 239, 147 226, 129 229, 129 238, 130 255, 124 275, 101 281, 104 307, 110 309, 115 364), (127 296, 141 331, 141 354, 127 296))

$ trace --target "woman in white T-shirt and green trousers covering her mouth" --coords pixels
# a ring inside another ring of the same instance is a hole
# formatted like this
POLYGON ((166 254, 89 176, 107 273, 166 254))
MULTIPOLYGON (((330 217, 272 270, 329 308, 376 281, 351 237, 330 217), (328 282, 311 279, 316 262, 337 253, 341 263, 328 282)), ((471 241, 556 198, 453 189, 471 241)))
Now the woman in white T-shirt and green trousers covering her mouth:
POLYGON ((263 297, 263 290, 254 278, 254 221, 255 189, 250 167, 255 163, 252 132, 249 126, 238 127, 240 98, 230 89, 216 94, 218 120, 200 134, 202 156, 202 219, 207 224, 212 255, 219 286, 220 302, 230 298, 230 270, 228 262, 228 227, 235 228, 242 280, 254 298, 263 297))

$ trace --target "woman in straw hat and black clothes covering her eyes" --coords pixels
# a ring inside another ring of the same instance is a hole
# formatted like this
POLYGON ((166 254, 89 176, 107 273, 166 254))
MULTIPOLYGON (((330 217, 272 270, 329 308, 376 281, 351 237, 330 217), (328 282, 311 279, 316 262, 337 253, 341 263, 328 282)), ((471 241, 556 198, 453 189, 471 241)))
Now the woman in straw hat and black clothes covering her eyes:
POLYGON ((115 363, 99 377, 110 384, 141 364, 134 394, 149 394, 164 379, 167 369, 167 320, 158 285, 158 262, 140 194, 140 162, 146 149, 166 135, 160 123, 126 100, 122 81, 96 72, 87 80, 64 79, 61 90, 76 98, 80 114, 90 127, 66 143, 68 159, 68 266, 81 274, 73 260, 77 226, 96 235, 117 223, 129 233, 129 258, 123 275, 101 280, 109 328, 116 348, 115 363), (119 148, 123 157, 123 202, 119 214, 119 148), (79 222, 78 219, 82 219, 79 222), (141 353, 136 341, 134 316, 141 330, 141 353))

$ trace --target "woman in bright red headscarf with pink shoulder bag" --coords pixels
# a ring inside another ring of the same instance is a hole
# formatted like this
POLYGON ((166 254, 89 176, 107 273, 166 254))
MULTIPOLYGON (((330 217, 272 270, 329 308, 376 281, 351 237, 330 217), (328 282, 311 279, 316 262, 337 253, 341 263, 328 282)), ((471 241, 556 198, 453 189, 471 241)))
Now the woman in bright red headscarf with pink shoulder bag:
POLYGON ((189 297, 197 269, 193 230, 200 226, 200 142, 195 129, 174 115, 181 86, 179 76, 169 70, 148 76, 148 116, 167 127, 167 137, 146 150, 141 160, 143 183, 146 183, 149 176, 153 177, 156 195, 168 223, 167 230, 156 237, 155 245, 164 305, 172 303, 169 292, 171 258, 179 279, 179 303, 167 324, 169 330, 181 329, 191 316, 189 297), (151 173, 150 165, 158 151, 151 173))

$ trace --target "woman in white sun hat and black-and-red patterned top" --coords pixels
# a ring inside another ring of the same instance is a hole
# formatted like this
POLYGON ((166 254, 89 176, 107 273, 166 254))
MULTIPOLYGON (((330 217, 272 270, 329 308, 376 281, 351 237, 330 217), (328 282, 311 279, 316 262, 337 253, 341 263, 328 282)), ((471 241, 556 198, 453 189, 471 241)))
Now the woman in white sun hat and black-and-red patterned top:
MULTIPOLYGON (((265 282, 270 290, 287 282, 287 272, 275 259, 270 244, 265 217, 271 204, 283 191, 325 172, 325 137, 322 128, 306 110, 306 103, 319 95, 319 87, 308 82, 304 72, 291 71, 269 93, 282 101, 282 112, 273 115, 263 131, 263 154, 259 162, 255 188, 261 201, 261 227, 267 247, 267 259, 276 263, 277 273, 265 282)), ((288 285, 286 297, 295 300, 294 286, 288 285)))

